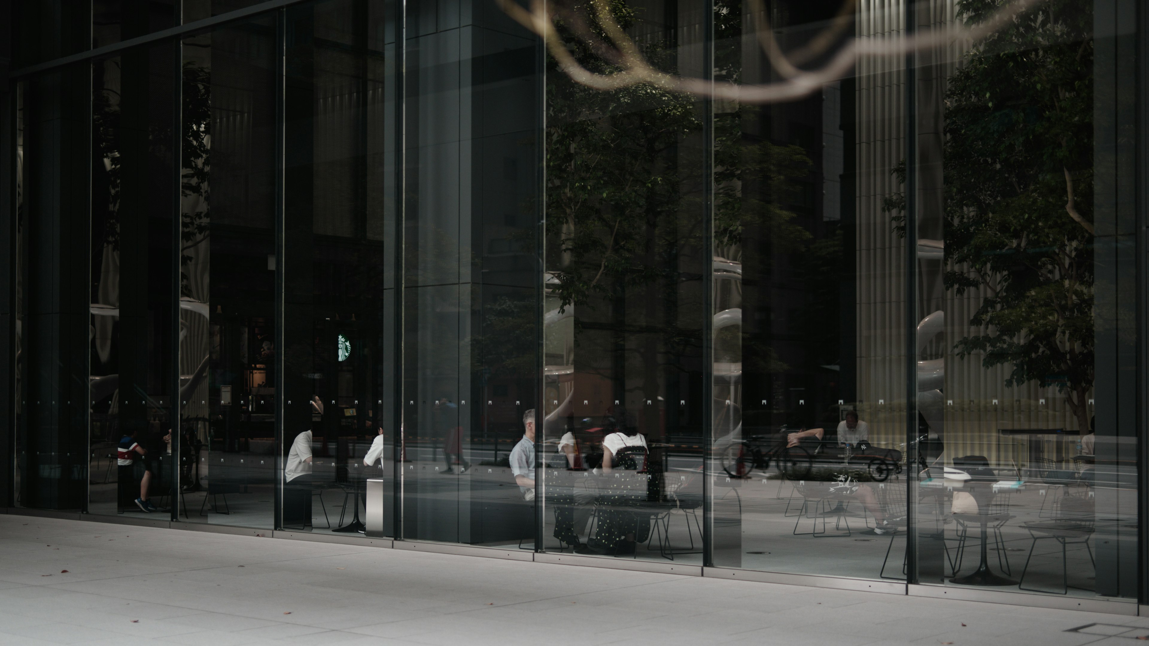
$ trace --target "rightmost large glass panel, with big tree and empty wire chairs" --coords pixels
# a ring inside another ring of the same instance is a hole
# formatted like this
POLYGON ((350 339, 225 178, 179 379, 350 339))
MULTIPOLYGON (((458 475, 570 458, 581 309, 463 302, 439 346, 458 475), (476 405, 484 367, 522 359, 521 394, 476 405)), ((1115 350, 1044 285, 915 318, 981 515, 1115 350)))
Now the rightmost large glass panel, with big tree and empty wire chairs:
POLYGON ((917 203, 893 213, 916 213, 919 410, 944 428, 919 498, 923 583, 1136 595, 1143 176, 1121 7, 1043 0, 918 56, 917 203))

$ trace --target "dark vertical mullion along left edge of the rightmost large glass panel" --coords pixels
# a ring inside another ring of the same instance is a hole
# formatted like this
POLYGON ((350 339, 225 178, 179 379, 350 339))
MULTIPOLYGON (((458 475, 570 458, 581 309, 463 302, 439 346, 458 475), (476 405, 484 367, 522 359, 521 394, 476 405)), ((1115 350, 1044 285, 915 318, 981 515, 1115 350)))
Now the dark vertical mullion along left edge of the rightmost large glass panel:
MULTIPOLYGON (((917 0, 905 0, 905 37, 910 38, 917 29, 917 0)), ((905 583, 918 583, 918 474, 917 456, 921 453, 918 440, 918 380, 917 380, 917 264, 918 264, 918 212, 917 212, 917 75, 915 66, 917 57, 912 52, 905 54, 905 441, 909 449, 909 463, 905 478, 905 521, 910 531, 905 532, 905 583)))

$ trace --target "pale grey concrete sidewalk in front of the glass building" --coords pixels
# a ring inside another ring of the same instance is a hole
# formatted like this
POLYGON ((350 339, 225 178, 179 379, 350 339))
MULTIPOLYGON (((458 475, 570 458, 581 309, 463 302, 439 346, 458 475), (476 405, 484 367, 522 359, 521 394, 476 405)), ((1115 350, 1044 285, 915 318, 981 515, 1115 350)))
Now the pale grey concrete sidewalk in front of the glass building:
POLYGON ((1132 646, 1138 636, 1149 617, 0 515, 3 646, 1132 646))

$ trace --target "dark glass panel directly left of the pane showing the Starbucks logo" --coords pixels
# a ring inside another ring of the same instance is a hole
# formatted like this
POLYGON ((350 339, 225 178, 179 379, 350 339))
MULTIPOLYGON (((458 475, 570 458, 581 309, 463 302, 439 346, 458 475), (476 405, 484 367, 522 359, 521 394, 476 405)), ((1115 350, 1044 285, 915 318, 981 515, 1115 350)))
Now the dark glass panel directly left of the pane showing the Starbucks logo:
POLYGON ((183 43, 183 517, 271 528, 276 494, 276 28, 183 43))

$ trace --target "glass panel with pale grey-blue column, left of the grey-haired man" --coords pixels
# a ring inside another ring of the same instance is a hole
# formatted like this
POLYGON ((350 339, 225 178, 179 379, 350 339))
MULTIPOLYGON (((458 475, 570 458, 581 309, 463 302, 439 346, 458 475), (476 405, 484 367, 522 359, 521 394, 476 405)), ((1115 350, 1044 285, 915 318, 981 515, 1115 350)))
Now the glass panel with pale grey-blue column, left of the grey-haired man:
POLYGON ((530 549, 538 45, 487 0, 407 10, 403 537, 530 549))

